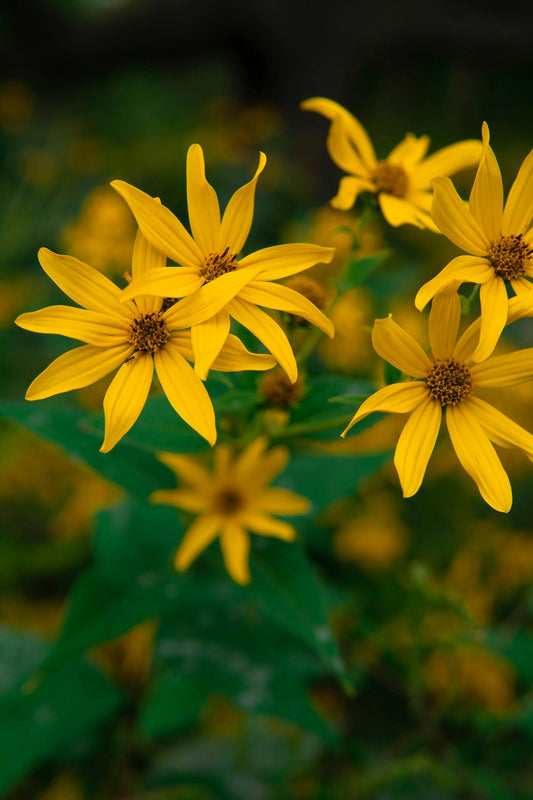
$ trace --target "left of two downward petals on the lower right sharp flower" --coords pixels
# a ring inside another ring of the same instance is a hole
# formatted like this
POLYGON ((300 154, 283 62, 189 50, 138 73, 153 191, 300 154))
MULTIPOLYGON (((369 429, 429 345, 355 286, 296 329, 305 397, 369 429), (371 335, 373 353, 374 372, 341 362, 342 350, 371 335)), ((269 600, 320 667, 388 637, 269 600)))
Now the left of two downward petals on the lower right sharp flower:
POLYGON ((394 466, 404 497, 412 497, 420 488, 437 441, 441 419, 441 404, 428 397, 415 408, 404 425, 394 453, 394 466))

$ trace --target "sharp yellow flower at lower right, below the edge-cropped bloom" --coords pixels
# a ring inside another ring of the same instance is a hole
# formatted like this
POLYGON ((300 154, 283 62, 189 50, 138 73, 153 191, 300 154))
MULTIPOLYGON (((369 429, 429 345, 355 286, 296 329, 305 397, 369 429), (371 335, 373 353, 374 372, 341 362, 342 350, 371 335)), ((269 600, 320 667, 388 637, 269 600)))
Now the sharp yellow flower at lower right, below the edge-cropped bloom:
POLYGON ((533 348, 476 364, 472 356, 480 323, 476 320, 455 343, 460 317, 457 292, 437 295, 429 315, 431 356, 392 317, 376 320, 374 349, 415 380, 379 389, 364 401, 342 436, 374 411, 408 413, 394 464, 404 497, 411 497, 424 478, 444 412, 460 463, 483 499, 497 511, 507 512, 512 504, 511 485, 492 443, 518 447, 533 460, 533 436, 479 397, 478 391, 514 386, 533 378, 533 348))

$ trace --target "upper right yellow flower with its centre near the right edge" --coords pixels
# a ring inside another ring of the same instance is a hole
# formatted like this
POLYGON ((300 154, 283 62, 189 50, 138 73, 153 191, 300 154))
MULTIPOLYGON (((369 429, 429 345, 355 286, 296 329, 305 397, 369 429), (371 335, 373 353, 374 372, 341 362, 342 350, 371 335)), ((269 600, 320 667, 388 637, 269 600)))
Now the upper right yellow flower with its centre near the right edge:
POLYGON ((481 331, 474 361, 490 356, 507 321, 507 285, 516 294, 533 288, 533 150, 520 167, 503 204, 500 168, 482 127, 483 153, 468 204, 449 178, 433 182, 431 215, 439 230, 469 253, 450 261, 416 295, 419 310, 435 294, 461 283, 481 284, 481 331))

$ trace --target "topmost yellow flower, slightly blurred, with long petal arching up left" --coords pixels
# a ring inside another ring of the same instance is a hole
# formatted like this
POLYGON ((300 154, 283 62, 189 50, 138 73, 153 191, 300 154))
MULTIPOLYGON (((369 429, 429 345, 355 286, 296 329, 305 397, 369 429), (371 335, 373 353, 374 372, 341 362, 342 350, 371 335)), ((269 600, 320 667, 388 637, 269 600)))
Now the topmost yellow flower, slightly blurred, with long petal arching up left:
POLYGON ((429 215, 432 179, 473 166, 481 154, 481 142, 468 139, 425 158, 429 137, 408 133, 387 158, 378 160, 367 132, 343 106, 325 97, 312 97, 304 100, 301 108, 317 111, 331 120, 329 154, 338 167, 349 173, 341 178, 331 205, 346 210, 359 194, 373 192, 383 216, 394 227, 416 225, 438 232, 429 215))

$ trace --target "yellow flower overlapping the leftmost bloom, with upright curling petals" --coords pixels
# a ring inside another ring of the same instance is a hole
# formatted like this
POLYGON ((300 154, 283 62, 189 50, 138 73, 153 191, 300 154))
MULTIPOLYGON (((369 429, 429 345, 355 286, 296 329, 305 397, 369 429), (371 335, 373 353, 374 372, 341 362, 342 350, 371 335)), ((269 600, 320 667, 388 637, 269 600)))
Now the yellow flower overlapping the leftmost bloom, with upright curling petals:
POLYGON ((273 281, 329 263, 335 249, 314 244, 267 247, 240 258, 254 213, 255 188, 266 164, 261 153, 252 180, 231 197, 221 218, 218 198, 205 177, 202 148, 187 153, 187 202, 192 236, 155 198, 124 181, 112 186, 128 203, 149 242, 178 267, 152 270, 132 281, 124 298, 139 294, 183 297, 177 314, 190 326, 195 370, 205 378, 230 330, 230 318, 248 328, 281 364, 294 383, 298 368, 282 328, 258 306, 286 311, 312 322, 333 337, 333 323, 310 300, 273 281))

